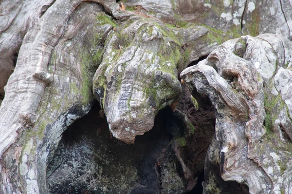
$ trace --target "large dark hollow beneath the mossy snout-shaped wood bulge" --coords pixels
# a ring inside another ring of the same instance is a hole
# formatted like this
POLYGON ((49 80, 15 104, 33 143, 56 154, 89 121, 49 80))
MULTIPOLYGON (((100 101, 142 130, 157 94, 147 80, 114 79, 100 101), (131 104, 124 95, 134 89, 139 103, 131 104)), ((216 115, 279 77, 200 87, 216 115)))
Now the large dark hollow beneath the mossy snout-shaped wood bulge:
POLYGON ((157 166, 157 161, 161 157, 164 161, 166 156, 179 165, 176 156, 169 155, 172 147, 168 145, 172 137, 182 136, 183 130, 182 120, 167 106, 155 117, 149 132, 137 136, 135 144, 126 144, 111 136, 106 117, 100 116, 96 103, 63 133, 47 167, 48 189, 54 194, 123 193, 127 188, 133 194, 156 193, 161 184, 157 173, 165 170, 162 164, 157 166), (120 188, 122 183, 128 184, 126 189, 120 188))

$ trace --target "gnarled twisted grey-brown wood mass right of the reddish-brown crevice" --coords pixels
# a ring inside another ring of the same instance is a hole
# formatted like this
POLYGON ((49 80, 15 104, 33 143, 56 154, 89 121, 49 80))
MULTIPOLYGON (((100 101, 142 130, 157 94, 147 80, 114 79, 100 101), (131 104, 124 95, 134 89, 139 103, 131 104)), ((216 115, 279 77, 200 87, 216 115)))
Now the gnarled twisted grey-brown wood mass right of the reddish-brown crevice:
POLYGON ((243 36, 181 73, 215 107, 204 193, 226 189, 218 175, 248 185, 251 194, 291 191, 291 45, 271 34, 243 36))

